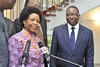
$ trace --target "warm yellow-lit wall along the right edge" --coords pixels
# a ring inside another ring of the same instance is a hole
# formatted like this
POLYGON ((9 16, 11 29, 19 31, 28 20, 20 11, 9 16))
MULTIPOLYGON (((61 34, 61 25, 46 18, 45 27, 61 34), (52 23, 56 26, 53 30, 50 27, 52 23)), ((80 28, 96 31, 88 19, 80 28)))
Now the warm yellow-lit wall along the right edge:
POLYGON ((95 19, 93 19, 93 14, 95 13, 95 11, 99 11, 98 15, 100 17, 100 7, 97 7, 82 15, 81 24, 90 28, 93 31, 94 47, 95 47, 94 61, 95 61, 95 64, 100 64, 100 52, 99 52, 100 51, 100 20, 98 22, 95 19))

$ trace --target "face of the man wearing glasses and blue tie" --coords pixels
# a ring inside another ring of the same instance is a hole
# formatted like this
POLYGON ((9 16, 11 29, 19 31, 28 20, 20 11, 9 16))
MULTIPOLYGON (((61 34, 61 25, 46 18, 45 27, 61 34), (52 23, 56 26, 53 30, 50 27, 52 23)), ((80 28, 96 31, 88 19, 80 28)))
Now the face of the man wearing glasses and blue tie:
POLYGON ((75 26, 78 23, 79 17, 80 17, 80 15, 76 8, 68 8, 67 9, 66 20, 70 25, 75 26))

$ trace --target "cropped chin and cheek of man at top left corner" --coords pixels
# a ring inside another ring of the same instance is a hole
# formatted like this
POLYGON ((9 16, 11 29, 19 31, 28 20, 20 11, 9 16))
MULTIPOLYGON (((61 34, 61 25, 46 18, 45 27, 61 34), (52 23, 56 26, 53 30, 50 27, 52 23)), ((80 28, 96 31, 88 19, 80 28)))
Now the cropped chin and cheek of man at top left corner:
POLYGON ((11 9, 15 5, 16 0, 0 0, 0 8, 11 9))

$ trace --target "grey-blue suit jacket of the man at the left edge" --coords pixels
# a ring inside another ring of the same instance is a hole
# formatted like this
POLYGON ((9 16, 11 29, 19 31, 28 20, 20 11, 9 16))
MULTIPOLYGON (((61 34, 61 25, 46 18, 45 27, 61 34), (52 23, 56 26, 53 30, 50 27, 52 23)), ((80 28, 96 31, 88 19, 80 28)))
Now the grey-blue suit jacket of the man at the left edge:
POLYGON ((8 66, 8 31, 6 21, 0 12, 0 67, 8 66))

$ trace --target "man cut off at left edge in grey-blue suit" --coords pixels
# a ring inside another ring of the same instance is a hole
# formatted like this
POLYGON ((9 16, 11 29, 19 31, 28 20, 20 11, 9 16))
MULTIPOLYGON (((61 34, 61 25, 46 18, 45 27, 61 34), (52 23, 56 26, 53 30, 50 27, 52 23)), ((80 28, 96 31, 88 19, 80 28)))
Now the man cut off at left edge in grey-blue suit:
POLYGON ((0 0, 0 67, 7 67, 9 62, 8 31, 2 11, 13 8, 15 2, 16 0, 0 0))

